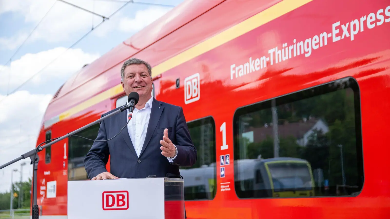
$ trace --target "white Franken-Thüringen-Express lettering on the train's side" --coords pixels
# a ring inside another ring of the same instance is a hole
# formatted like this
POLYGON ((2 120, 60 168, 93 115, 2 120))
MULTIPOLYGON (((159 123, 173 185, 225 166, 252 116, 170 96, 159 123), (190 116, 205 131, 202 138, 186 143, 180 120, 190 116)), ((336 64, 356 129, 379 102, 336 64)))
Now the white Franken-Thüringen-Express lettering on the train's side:
POLYGON ((330 33, 322 32, 319 35, 314 35, 299 42, 294 39, 293 44, 290 46, 285 42, 282 44, 282 47, 276 46, 275 48, 269 49, 268 57, 250 57, 249 62, 230 65, 230 79, 239 78, 264 69, 267 67, 268 61, 269 65, 274 65, 303 54, 305 54, 305 57, 309 57, 312 54, 312 50, 328 45, 328 38, 332 39, 330 42, 337 42, 348 37, 351 38, 351 41, 354 41, 356 35, 364 31, 365 26, 368 29, 372 29, 375 26, 380 26, 388 22, 390 22, 390 5, 386 9, 379 9, 376 13, 371 12, 368 15, 362 16, 359 19, 353 19, 351 22, 345 24, 337 21, 332 24, 332 32, 330 33))

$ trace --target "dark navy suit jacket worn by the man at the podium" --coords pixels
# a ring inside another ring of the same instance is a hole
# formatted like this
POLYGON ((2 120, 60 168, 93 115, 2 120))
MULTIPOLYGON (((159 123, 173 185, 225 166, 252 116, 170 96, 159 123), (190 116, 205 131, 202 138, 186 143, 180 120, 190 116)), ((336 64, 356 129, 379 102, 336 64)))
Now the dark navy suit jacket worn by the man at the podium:
MULTIPOLYGON (((126 125, 127 116, 126 111, 123 111, 101 121, 96 140, 107 140, 115 136, 126 125)), ((197 160, 197 150, 192 143, 183 108, 154 98, 140 157, 137 157, 126 125, 112 140, 94 141, 84 159, 85 170, 90 179, 107 171, 105 166, 108 155, 110 172, 119 178, 180 175, 179 166, 192 166, 197 160), (177 156, 172 163, 161 154, 160 140, 163 140, 165 128, 168 129, 168 138, 177 147, 177 156)))

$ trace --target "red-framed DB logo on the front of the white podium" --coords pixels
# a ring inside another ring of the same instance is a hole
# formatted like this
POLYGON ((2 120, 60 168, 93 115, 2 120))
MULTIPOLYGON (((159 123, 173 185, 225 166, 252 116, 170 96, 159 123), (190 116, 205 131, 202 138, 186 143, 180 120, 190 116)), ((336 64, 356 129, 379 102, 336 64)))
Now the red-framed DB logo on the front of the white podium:
POLYGON ((103 192, 103 210, 127 210, 129 209, 128 191, 103 192))

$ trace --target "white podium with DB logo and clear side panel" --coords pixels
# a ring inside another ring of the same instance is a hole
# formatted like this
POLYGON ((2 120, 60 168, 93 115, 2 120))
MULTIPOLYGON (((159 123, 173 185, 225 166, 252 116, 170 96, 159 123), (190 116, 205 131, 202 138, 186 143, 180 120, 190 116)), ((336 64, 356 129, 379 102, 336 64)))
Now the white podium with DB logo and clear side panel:
POLYGON ((184 219, 181 178, 68 181, 68 219, 184 219))

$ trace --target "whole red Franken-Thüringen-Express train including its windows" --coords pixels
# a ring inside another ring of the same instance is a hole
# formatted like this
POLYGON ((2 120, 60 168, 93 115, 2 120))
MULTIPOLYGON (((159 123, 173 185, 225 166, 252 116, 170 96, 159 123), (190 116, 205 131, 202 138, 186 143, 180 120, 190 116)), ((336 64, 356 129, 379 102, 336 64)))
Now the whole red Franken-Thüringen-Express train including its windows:
MULTIPOLYGON (((137 57, 198 150, 181 169, 188 218, 390 218, 389 35, 388 0, 188 0, 69 78, 37 145, 124 104, 120 68, 137 57)), ((66 218, 91 144, 39 154, 41 215, 66 218)))

